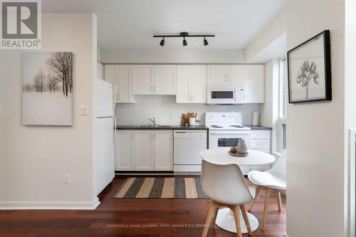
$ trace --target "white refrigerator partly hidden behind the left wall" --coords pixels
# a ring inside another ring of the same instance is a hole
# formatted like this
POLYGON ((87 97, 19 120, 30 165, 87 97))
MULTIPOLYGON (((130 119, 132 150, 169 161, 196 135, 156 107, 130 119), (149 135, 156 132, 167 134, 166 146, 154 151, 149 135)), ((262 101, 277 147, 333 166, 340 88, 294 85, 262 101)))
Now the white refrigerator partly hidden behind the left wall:
POLYGON ((115 177, 115 91, 111 83, 96 80, 94 104, 94 189, 100 194, 115 177))

